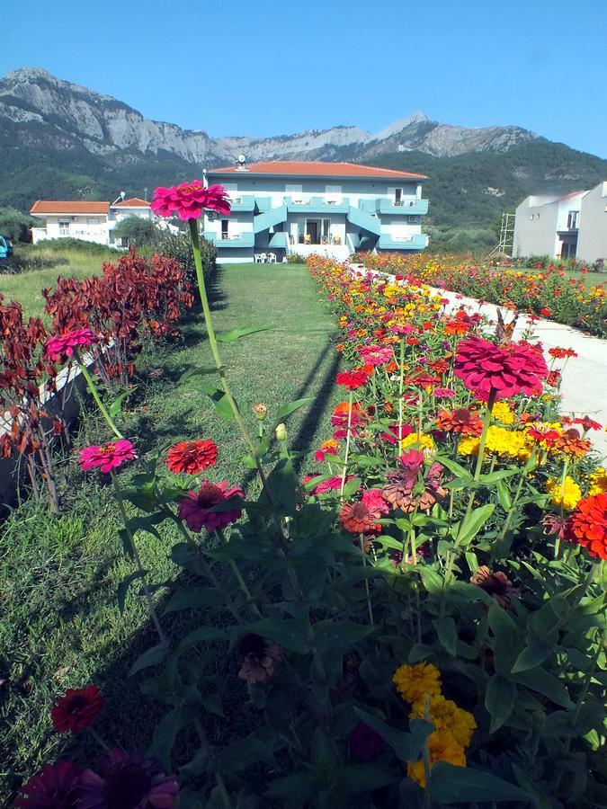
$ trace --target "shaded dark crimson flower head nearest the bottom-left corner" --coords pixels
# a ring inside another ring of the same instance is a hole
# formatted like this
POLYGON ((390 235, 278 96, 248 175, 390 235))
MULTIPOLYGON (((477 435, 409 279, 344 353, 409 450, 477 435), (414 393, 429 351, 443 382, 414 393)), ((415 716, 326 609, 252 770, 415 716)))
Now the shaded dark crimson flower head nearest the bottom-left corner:
POLYGON ((40 772, 23 784, 17 809, 78 809, 81 769, 71 761, 44 764, 40 772))

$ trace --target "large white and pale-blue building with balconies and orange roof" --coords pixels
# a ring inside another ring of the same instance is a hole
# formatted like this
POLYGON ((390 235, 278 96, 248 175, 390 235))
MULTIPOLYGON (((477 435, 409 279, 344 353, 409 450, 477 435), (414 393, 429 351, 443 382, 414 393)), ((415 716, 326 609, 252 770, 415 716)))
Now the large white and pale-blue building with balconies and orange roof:
POLYGON ((424 174, 377 166, 269 161, 223 166, 205 181, 228 191, 228 217, 204 218, 204 236, 219 262, 251 262, 258 253, 331 255, 356 250, 415 253, 428 244, 422 218, 424 174))

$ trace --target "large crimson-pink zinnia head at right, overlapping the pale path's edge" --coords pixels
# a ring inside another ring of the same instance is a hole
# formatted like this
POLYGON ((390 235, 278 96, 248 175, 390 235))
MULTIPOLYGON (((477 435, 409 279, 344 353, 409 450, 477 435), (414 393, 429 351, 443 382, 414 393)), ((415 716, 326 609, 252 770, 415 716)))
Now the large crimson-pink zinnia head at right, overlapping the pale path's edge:
POLYGON ((455 376, 484 399, 491 390, 498 399, 523 393, 537 396, 548 366, 541 351, 526 342, 499 346, 481 337, 469 337, 458 345, 455 376))

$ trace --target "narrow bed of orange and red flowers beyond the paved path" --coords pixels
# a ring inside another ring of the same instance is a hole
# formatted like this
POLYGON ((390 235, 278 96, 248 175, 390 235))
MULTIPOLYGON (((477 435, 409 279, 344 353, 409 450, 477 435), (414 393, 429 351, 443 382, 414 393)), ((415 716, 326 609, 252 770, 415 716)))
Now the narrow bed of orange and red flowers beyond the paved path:
POLYGON ((577 280, 568 278, 556 264, 548 270, 540 265, 533 270, 520 270, 507 264, 426 253, 361 253, 356 258, 369 270, 406 276, 416 284, 451 289, 469 298, 540 315, 599 337, 607 336, 607 289, 604 284, 586 285, 583 281, 592 278, 592 274, 584 267, 577 280))

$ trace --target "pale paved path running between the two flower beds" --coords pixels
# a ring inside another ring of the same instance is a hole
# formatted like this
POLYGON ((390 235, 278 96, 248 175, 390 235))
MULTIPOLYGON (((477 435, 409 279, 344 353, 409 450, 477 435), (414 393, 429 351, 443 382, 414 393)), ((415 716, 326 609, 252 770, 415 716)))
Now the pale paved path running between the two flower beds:
MULTIPOLYGON (((353 270, 360 271, 356 264, 352 264, 351 267, 353 270)), ((445 307, 448 312, 459 309, 463 305, 469 307, 470 313, 480 312, 490 320, 497 320, 497 310, 500 307, 495 304, 481 304, 476 298, 465 298, 458 292, 431 289, 442 298, 449 300, 445 307)), ((508 317, 510 313, 504 309, 503 312, 507 322, 510 319, 508 317)), ((514 336, 520 336, 528 324, 529 318, 520 315, 514 336)), ((534 325, 533 333, 545 350, 558 346, 573 349, 578 354, 576 358, 567 360, 563 373, 560 388, 561 412, 575 416, 589 415, 603 426, 607 425, 607 340, 587 336, 571 326, 541 319, 534 325)), ((563 361, 556 360, 554 368, 562 368, 563 361)), ((604 430, 590 431, 589 437, 598 454, 602 458, 607 458, 607 432, 604 430)))

